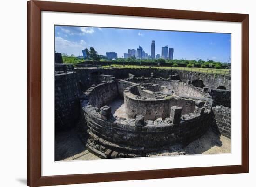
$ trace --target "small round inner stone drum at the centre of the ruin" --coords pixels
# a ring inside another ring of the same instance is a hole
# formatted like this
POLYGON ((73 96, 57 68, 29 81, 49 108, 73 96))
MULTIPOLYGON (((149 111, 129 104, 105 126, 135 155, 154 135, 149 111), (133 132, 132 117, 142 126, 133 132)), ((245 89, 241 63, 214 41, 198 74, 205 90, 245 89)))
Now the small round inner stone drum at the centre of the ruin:
POLYGON ((145 120, 166 118, 169 113, 170 88, 158 84, 139 84, 124 90, 124 104, 128 117, 143 115, 145 120))

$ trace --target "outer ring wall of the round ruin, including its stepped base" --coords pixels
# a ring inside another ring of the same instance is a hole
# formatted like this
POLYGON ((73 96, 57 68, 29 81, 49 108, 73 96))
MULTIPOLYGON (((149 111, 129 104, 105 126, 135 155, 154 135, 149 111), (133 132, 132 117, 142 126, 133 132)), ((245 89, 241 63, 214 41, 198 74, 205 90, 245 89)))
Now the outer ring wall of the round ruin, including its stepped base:
MULTIPOLYGON (((209 128, 211 102, 207 100, 203 100, 204 105, 197 105, 194 113, 187 112, 179 117, 178 122, 174 116, 156 121, 142 118, 139 122, 137 118, 123 119, 112 115, 106 118, 101 112, 103 107, 99 109, 95 107, 97 105, 92 105, 92 98, 95 97, 94 93, 98 93, 98 89, 114 83, 116 82, 89 89, 81 102, 90 134, 87 146, 97 150, 103 157, 143 156, 166 145, 186 145, 202 136, 209 128), (108 154, 109 150, 115 154, 108 154)), ((199 101, 196 98, 194 100, 197 103, 199 101)))

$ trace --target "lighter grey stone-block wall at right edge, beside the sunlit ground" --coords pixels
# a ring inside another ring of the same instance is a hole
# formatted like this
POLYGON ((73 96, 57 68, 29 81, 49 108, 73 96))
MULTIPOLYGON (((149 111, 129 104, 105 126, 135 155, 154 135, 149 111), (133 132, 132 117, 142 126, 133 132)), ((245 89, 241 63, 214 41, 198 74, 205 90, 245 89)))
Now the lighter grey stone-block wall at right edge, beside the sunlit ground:
POLYGON ((212 129, 217 134, 222 134, 231 138, 231 110, 228 107, 216 106, 212 107, 213 121, 212 129))

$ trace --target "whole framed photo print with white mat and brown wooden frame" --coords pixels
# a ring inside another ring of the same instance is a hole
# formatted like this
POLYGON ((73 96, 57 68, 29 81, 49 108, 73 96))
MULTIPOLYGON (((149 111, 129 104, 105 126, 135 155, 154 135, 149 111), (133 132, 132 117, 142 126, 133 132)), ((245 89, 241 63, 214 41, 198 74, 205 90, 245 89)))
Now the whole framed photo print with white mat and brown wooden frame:
POLYGON ((27 6, 29 186, 249 171, 249 15, 27 6))

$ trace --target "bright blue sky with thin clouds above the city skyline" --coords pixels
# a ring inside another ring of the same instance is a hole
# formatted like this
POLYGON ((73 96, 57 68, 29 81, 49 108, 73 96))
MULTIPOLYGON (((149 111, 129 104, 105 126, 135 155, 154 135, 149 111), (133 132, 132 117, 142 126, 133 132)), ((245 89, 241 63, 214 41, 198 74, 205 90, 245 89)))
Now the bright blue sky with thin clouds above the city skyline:
POLYGON ((173 59, 227 62, 231 55, 229 33, 55 26, 55 51, 68 55, 82 55, 83 49, 92 46, 99 54, 114 51, 123 57, 128 49, 137 49, 139 45, 150 55, 152 40, 155 55, 161 55, 161 47, 167 45, 174 48, 173 59))

